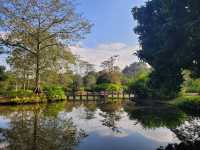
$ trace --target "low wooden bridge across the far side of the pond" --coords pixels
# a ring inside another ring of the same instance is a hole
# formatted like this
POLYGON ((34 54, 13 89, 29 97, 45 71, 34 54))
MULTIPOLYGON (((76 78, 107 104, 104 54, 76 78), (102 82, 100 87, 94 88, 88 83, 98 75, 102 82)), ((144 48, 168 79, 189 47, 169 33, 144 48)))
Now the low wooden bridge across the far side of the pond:
POLYGON ((76 92, 74 94, 68 94, 68 100, 86 100, 86 101, 96 101, 96 100, 114 100, 114 99, 127 99, 130 100, 134 97, 131 93, 124 92, 76 92))

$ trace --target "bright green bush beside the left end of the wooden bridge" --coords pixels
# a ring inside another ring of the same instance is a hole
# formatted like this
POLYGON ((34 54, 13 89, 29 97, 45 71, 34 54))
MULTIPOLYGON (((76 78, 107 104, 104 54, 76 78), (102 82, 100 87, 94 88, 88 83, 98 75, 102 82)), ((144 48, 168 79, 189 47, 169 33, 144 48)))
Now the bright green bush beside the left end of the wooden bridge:
POLYGON ((65 91, 60 86, 46 86, 44 92, 50 101, 66 99, 65 91))

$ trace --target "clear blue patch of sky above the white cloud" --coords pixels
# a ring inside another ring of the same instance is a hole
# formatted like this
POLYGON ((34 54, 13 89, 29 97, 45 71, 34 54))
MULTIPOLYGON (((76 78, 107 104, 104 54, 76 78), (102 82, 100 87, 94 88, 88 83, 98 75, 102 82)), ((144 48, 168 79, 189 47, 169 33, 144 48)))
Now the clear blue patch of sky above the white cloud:
POLYGON ((80 0, 79 11, 94 24, 84 45, 93 47, 119 41, 136 44, 131 9, 143 3, 144 0, 80 0))

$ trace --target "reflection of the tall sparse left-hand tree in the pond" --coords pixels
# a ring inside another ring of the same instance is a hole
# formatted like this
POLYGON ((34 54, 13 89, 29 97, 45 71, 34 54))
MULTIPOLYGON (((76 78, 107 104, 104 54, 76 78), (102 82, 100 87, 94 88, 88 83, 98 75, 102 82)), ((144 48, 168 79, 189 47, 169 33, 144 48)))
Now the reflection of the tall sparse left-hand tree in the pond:
POLYGON ((43 107, 21 110, 9 114, 9 129, 3 133, 11 150, 71 150, 86 137, 72 120, 45 116, 43 107))

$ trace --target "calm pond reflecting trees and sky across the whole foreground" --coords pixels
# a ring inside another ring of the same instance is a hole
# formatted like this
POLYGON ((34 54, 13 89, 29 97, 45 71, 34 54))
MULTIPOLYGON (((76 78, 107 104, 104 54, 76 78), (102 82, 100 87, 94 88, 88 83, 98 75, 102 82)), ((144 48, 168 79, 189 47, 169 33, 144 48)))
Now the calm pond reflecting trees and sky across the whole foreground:
POLYGON ((197 138, 197 126, 198 116, 163 104, 96 101, 0 106, 0 149, 156 150, 197 138))

